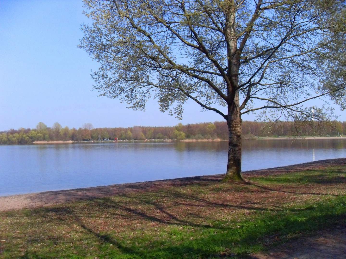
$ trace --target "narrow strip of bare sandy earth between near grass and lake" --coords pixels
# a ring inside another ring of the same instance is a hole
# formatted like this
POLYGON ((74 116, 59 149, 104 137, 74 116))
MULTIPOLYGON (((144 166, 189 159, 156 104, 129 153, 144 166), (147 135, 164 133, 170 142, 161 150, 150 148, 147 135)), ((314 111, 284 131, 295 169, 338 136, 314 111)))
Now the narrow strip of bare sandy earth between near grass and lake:
MULTIPOLYGON (((266 176, 297 172, 301 170, 316 170, 327 165, 345 165, 346 158, 319 160, 303 164, 294 164, 268 169, 252 170, 243 172, 244 178, 251 176, 266 176)), ((192 176, 186 178, 156 180, 147 182, 112 184, 105 186, 96 186, 88 188, 45 191, 37 193, 13 194, 0 196, 0 211, 8 211, 23 208, 38 208, 49 205, 74 202, 80 200, 89 200, 107 196, 126 194, 130 192, 144 192, 149 190, 158 190, 170 186, 189 185, 205 181, 221 181, 225 174, 192 176)))

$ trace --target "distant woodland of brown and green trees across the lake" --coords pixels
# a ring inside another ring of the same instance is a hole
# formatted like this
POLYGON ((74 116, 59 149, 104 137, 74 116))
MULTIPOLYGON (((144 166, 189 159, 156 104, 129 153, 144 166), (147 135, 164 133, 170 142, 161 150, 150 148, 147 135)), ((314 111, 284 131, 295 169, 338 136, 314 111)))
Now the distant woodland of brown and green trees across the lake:
MULTIPOLYGON (((242 123, 243 138, 257 136, 337 136, 346 135, 346 122, 251 122, 242 123)), ((33 143, 34 141, 104 141, 146 139, 228 139, 226 122, 177 124, 174 127, 134 126, 128 128, 93 128, 91 123, 82 127, 62 127, 54 123, 47 127, 39 122, 34 129, 19 128, 0 132, 0 143, 33 143)))

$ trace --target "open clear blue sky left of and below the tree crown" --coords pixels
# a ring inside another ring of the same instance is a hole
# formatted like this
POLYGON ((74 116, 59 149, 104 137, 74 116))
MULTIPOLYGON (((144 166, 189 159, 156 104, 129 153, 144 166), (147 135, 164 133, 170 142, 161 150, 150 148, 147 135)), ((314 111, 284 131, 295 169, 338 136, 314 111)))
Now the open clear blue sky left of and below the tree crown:
MULTIPOLYGON (((168 126, 180 121, 158 110, 156 100, 145 112, 91 91, 91 69, 98 68, 76 45, 83 37, 82 1, 0 1, 0 131, 52 126, 168 126)), ((337 108, 337 107, 336 107, 337 108)), ((338 109, 338 108, 337 108, 338 109)), ((344 120, 345 113, 339 119, 344 120)), ((253 120, 253 115, 243 116, 253 120)), ((189 102, 183 124, 222 121, 215 112, 200 112, 189 102)))

